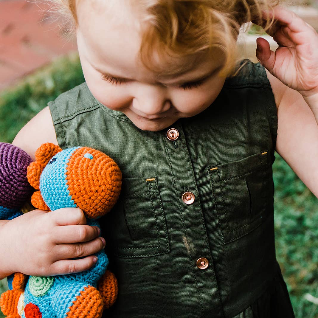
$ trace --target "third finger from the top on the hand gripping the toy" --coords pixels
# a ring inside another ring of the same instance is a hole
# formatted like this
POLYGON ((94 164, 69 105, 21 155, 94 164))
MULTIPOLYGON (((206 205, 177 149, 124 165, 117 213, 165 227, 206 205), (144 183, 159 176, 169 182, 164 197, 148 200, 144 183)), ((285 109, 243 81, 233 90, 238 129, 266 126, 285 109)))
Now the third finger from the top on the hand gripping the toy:
POLYGON ((52 250, 52 253, 58 255, 58 258, 55 260, 71 259, 97 253, 101 251, 105 245, 105 239, 99 237, 84 243, 56 245, 52 250))

